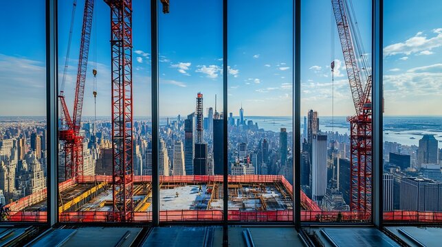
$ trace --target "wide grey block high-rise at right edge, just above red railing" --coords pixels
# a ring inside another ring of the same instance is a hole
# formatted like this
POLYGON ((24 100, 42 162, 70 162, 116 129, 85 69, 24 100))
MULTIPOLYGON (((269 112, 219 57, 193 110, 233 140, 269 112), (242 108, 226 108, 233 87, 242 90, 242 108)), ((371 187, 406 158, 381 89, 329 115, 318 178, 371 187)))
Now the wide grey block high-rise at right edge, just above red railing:
POLYGON ((442 211, 442 184, 428 178, 402 178, 400 209, 442 211))

